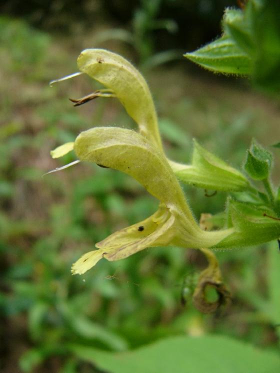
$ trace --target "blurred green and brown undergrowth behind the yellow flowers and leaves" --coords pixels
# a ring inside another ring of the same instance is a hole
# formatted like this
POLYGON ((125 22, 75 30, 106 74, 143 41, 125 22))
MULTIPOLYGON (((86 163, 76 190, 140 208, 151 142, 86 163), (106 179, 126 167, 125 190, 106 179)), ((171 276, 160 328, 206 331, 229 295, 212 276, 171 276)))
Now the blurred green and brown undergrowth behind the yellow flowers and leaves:
MULTIPOLYGON (((121 351, 163 336, 218 333, 277 347, 276 243, 218 252, 232 304, 222 314, 202 315, 191 301, 181 302, 184 284, 206 264, 195 250, 151 248, 70 274, 71 263, 94 242, 155 211, 157 201, 140 185, 84 163, 43 176, 74 160, 73 154, 53 160, 49 151, 79 131, 134 125, 113 98, 72 107, 68 97, 96 88, 85 76, 49 87, 51 79, 77 70, 85 47, 119 52, 144 73, 174 160, 190 160, 192 137, 238 167, 251 137, 274 143, 278 102, 253 92, 243 79, 212 75, 182 57, 220 33, 224 6, 237 2, 1 2, 2 372, 99 371, 71 353, 68 343, 121 351)), ((197 218, 222 210, 226 198, 222 192, 205 197, 192 187, 185 193, 197 218)))

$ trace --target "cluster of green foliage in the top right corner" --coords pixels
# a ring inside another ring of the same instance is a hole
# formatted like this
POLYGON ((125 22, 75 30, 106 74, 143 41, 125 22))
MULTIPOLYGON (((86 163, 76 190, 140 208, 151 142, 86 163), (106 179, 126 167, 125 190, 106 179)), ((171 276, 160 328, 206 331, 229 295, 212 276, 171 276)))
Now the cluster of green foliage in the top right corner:
POLYGON ((227 8, 222 36, 185 56, 216 72, 248 75, 256 86, 278 95, 279 16, 277 1, 248 0, 243 10, 227 8))

